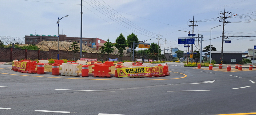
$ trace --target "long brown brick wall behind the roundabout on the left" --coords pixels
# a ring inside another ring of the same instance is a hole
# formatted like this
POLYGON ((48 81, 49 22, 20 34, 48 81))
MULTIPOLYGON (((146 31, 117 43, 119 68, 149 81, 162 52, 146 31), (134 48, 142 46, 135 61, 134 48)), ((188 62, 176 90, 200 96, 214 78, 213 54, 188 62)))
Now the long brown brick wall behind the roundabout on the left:
MULTIPOLYGON (((39 57, 38 57, 38 50, 27 50, 27 59, 57 59, 57 54, 58 50, 49 50, 49 51, 40 51, 39 52, 39 57)), ((25 49, 15 49, 13 48, 12 51, 12 60, 14 59, 25 59, 25 54, 26 54, 26 50, 25 49)), ((10 48, 0 48, 0 62, 10 62, 10 55, 11 55, 11 49, 10 48)), ((97 58, 98 60, 101 59, 101 57, 99 57, 100 54, 97 53, 82 53, 82 57, 83 58, 97 58)), ((109 55, 109 58, 117 58, 118 56, 116 55, 109 55)), ((77 53, 72 53, 72 52, 68 52, 68 51, 64 51, 64 50, 60 50, 59 51, 59 59, 80 59, 80 52, 77 53)), ((106 61, 107 58, 107 54, 105 54, 105 56, 102 58, 103 60, 106 61)), ((120 59, 120 57, 118 57, 118 59, 120 59)), ((129 56, 124 56, 122 57, 122 60, 130 60, 129 56)), ((136 59, 134 59, 136 60, 136 59)))

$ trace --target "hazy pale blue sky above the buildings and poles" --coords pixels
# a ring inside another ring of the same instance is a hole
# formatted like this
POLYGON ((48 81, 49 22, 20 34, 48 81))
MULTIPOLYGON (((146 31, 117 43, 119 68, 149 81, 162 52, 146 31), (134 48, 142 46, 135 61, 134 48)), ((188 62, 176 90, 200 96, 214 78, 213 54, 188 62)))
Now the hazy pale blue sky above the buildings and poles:
MULTIPOLYGON (((198 25, 194 34, 203 35, 202 47, 210 45, 212 37, 213 47, 221 51, 223 23, 219 17, 226 6, 225 21, 231 23, 225 25, 229 37, 224 40, 231 43, 224 43, 223 50, 245 52, 256 45, 256 37, 230 36, 256 36, 255 4, 256 0, 83 0, 82 36, 114 43, 120 33, 125 38, 134 33, 140 41, 158 44, 159 34, 161 49, 167 40, 165 49, 185 51, 178 37, 187 37, 188 31, 192 34, 189 21, 194 16, 194 25, 198 25)), ((0 36, 58 35, 58 18, 69 15, 59 22, 59 34, 80 37, 80 12, 81 0, 1 0, 0 36)), ((198 50, 198 41, 193 48, 198 50)))

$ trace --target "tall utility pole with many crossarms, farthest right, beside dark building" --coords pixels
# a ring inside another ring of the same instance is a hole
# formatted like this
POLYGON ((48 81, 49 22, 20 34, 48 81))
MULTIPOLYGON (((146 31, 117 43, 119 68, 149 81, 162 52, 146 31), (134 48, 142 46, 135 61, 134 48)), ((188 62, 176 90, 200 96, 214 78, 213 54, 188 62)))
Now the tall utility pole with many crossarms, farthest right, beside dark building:
MULTIPOLYGON (((226 24, 230 23, 228 21, 225 21, 226 18, 229 18, 229 17, 225 17, 225 14, 228 13, 230 14, 231 12, 226 12, 226 6, 224 7, 224 12, 223 13, 220 13, 222 15, 224 15, 223 17, 220 17, 221 19, 223 19, 223 21, 219 21, 219 22, 223 22, 223 31, 222 31, 222 44, 221 44, 221 61, 220 61, 220 64, 223 63, 223 42, 224 42, 224 27, 226 24), (226 23, 226 24, 225 24, 226 23)), ((228 38, 228 37, 227 37, 228 38)), ((225 38, 225 39, 227 39, 225 38)))

